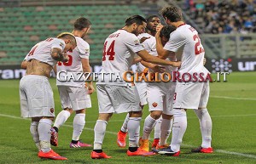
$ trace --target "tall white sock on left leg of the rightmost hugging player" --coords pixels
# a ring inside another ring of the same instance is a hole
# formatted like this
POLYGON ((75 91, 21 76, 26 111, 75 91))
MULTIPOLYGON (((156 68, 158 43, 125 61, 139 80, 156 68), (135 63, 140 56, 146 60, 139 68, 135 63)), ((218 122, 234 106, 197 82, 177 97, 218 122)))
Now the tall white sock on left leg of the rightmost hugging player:
POLYGON ((183 141, 183 135, 187 129, 187 115, 183 109, 173 109, 172 142, 171 148, 177 152, 183 141))

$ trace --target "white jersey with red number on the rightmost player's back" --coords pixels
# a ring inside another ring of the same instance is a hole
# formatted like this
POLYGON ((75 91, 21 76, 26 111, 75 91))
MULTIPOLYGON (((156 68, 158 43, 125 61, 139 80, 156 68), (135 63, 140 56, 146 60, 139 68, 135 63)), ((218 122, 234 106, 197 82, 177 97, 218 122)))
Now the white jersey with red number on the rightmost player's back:
POLYGON ((198 32, 192 26, 185 24, 178 26, 177 30, 171 33, 164 48, 175 52, 177 59, 181 59, 182 64, 178 69, 181 74, 203 72, 207 75, 209 72, 203 65, 205 50, 198 32))

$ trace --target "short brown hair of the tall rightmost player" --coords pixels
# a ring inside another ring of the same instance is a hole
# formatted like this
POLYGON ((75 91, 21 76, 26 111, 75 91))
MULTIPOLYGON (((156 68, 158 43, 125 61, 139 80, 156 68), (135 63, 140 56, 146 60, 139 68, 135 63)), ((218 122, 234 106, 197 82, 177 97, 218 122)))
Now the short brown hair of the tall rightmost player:
POLYGON ((162 8, 160 10, 160 14, 162 14, 164 19, 167 18, 168 20, 170 20, 172 22, 177 22, 177 21, 183 20, 181 8, 178 8, 174 4, 172 4, 168 7, 162 8))

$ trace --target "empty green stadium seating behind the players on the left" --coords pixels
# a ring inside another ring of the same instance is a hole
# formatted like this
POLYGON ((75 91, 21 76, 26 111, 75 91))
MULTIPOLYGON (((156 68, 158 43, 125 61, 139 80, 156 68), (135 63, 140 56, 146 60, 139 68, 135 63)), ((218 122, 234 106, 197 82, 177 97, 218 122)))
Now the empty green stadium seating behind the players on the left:
POLYGON ((88 5, 1 8, 0 64, 20 63, 32 46, 55 37, 62 31, 71 31, 73 21, 79 16, 92 22, 90 34, 90 59, 102 59, 102 45, 106 37, 124 25, 131 14, 143 14, 136 5, 88 5))

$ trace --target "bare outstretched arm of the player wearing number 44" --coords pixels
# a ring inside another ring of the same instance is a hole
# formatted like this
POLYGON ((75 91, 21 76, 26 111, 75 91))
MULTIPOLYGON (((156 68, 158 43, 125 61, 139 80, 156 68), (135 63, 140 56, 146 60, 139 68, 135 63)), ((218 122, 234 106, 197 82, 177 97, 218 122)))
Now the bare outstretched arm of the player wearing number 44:
POLYGON ((180 61, 168 61, 165 59, 160 59, 158 57, 148 54, 146 50, 141 50, 137 54, 146 62, 153 63, 155 65, 172 65, 174 67, 180 67, 180 61))

